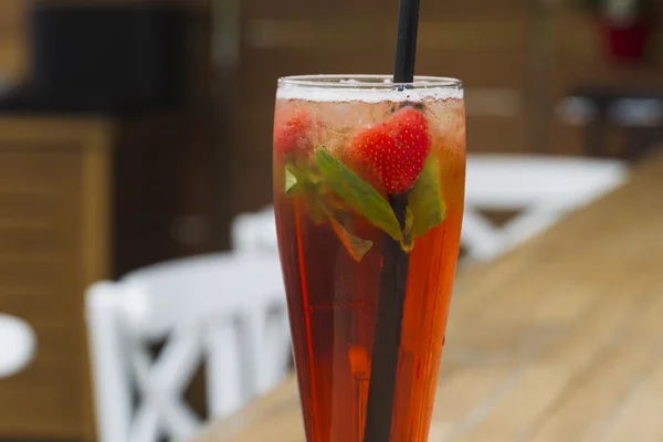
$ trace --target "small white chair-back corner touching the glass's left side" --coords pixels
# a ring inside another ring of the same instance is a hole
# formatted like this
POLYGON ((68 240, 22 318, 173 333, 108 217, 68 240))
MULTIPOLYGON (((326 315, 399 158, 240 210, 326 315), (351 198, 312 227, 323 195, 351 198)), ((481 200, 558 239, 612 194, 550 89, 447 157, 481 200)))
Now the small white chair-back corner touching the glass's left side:
POLYGON ((255 213, 241 213, 231 225, 232 248, 250 253, 278 253, 274 207, 255 213))

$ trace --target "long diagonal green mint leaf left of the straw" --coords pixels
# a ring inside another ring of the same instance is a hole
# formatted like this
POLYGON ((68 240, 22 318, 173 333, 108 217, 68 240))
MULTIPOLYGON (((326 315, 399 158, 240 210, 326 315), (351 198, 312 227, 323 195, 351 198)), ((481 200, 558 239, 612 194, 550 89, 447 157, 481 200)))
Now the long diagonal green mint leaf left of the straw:
POLYGON ((317 149, 315 160, 327 187, 373 225, 402 242, 403 232, 391 206, 371 185, 323 148, 317 149))

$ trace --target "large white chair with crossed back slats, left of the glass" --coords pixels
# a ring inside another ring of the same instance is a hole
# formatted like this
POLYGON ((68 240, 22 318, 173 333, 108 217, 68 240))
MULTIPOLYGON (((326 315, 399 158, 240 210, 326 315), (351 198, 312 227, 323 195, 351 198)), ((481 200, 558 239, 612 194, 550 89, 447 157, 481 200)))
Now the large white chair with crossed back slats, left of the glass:
POLYGON ((101 442, 193 434, 200 419, 182 391, 203 359, 211 418, 229 415, 287 372, 277 256, 229 253, 158 264, 94 284, 86 302, 101 442), (147 347, 164 339, 152 361, 147 347))

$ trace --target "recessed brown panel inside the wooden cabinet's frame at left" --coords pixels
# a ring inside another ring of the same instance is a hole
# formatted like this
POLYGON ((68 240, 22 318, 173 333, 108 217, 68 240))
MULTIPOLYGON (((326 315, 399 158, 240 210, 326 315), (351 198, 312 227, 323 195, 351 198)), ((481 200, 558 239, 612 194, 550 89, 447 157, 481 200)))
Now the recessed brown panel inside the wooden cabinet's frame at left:
POLYGON ((3 434, 75 438, 81 432, 82 159, 75 144, 0 141, 0 305, 38 335, 33 362, 0 381, 3 434), (45 241, 44 241, 45 240, 45 241), (43 241, 43 242, 40 242, 43 241), (24 249, 22 243, 32 244, 24 249), (18 248, 17 248, 18 245, 18 248), (74 267, 74 269, 72 269, 74 267), (46 311, 50 304, 57 304, 46 311), (66 308, 69 307, 69 308, 66 308), (46 314, 48 313, 48 314, 46 314), (63 407, 67 402, 70 407, 63 407))

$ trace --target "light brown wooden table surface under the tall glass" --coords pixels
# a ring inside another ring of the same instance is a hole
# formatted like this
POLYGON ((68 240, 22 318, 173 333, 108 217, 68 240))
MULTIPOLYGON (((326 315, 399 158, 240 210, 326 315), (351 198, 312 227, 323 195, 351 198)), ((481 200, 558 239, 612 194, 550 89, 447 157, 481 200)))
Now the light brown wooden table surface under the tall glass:
MULTIPOLYGON (((663 441, 663 156, 461 271, 446 343, 431 442, 663 441)), ((298 407, 290 379, 194 442, 304 442, 298 407)))

